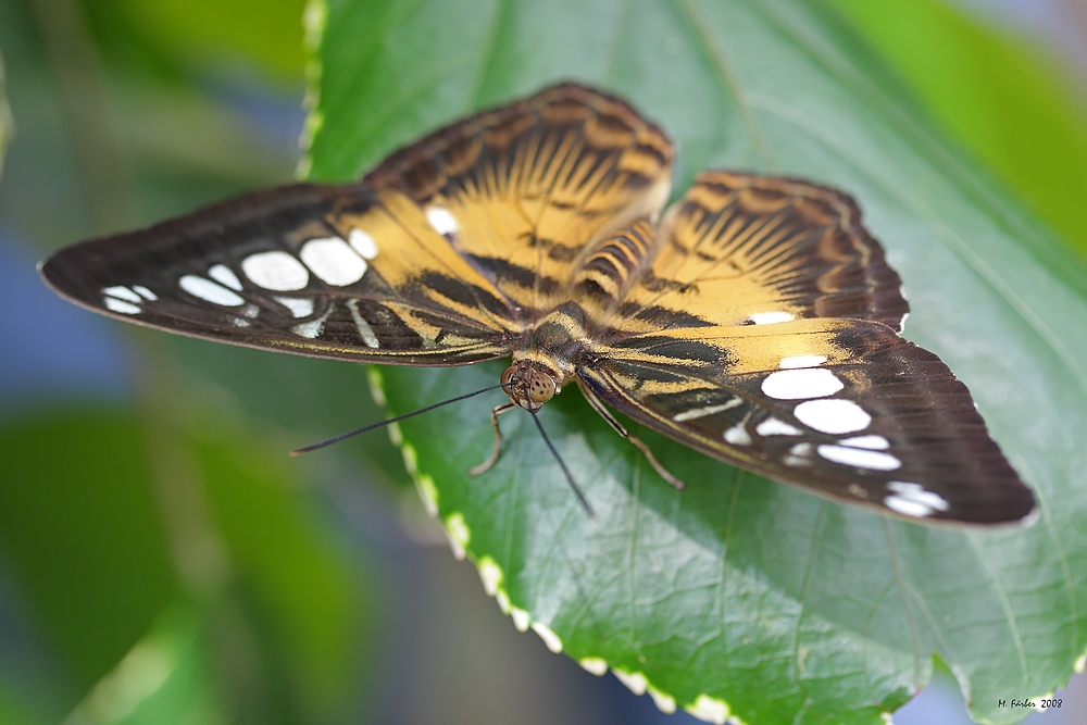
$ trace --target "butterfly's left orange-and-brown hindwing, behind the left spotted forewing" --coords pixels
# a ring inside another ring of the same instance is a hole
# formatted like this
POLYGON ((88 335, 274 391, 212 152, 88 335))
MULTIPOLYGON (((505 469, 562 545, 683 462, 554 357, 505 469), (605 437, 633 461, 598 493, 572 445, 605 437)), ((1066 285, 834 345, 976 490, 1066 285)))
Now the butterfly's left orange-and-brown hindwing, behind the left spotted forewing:
POLYGON ((565 84, 443 128, 363 184, 410 196, 528 317, 569 295, 587 245, 671 188, 673 146, 625 102, 565 84))

